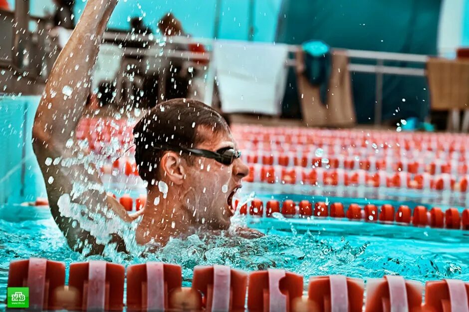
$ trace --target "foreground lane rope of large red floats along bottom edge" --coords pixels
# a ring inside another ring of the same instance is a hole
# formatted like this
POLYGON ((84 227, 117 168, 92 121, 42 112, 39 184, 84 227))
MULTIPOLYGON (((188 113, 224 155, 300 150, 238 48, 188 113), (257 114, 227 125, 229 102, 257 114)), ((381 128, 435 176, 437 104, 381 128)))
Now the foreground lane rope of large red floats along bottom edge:
POLYGON ((192 286, 182 287, 182 269, 174 264, 148 262, 125 270, 104 261, 72 263, 65 285, 64 263, 31 258, 10 262, 7 287, 28 287, 29 310, 34 311, 469 311, 469 283, 461 280, 429 281, 424 288, 388 275, 368 279, 365 292, 362 279, 312 276, 303 289, 303 276, 295 273, 245 273, 219 265, 195 267, 192 286))

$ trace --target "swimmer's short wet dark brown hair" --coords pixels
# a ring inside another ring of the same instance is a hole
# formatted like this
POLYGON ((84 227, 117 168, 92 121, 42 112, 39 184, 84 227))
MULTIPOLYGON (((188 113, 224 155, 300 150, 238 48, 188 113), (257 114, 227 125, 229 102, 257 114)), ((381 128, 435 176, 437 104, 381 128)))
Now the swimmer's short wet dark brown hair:
MULTIPOLYGON (((199 131, 201 128, 214 134, 230 131, 226 120, 215 109, 200 101, 180 98, 151 109, 133 131, 135 161, 140 177, 149 185, 152 180, 159 179, 158 165, 164 152, 151 147, 169 145, 197 148, 200 143, 210 139, 199 131)), ((185 153, 182 157, 189 164, 194 164, 196 158, 185 153)))

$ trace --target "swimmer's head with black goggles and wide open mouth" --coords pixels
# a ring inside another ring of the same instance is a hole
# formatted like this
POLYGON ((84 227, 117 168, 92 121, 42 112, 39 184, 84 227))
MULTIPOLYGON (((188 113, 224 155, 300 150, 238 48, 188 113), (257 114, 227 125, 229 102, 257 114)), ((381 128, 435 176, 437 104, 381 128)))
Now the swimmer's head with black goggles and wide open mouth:
POLYGON ((138 122, 134 137, 139 174, 149 191, 173 188, 175 198, 168 200, 182 206, 194 224, 230 226, 233 195, 248 168, 216 110, 195 100, 170 100, 138 122))

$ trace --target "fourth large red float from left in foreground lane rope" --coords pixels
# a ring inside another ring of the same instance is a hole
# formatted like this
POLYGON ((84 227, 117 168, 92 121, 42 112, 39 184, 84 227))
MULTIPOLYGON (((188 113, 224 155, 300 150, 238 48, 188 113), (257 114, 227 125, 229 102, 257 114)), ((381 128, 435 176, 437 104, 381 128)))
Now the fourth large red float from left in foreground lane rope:
POLYGON ((226 266, 195 267, 192 288, 203 294, 205 311, 242 311, 247 274, 226 266))

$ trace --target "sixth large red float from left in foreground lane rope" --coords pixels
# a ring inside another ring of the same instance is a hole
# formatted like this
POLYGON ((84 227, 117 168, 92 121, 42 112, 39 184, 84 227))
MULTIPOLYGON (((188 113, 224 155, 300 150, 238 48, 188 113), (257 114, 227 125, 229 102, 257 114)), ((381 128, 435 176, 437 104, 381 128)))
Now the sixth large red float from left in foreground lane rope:
POLYGON ((350 279, 341 275, 311 277, 308 299, 321 312, 362 312, 363 280, 350 279))

